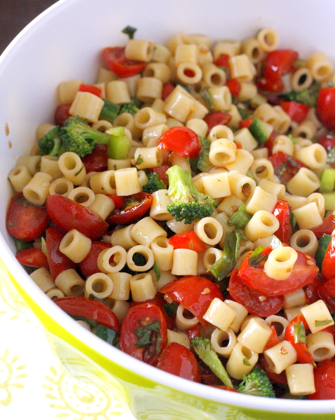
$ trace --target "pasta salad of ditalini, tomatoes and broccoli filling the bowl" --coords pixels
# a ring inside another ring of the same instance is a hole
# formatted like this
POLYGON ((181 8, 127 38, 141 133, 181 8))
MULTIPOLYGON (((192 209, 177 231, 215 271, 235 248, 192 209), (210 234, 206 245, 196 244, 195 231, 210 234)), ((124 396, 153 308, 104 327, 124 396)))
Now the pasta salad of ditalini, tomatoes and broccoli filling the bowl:
POLYGON ((18 261, 145 363, 178 343, 187 379, 246 392, 261 374, 257 395, 322 398, 319 372, 335 369, 331 60, 268 27, 130 36, 97 73, 60 81, 57 118, 8 174, 18 261))

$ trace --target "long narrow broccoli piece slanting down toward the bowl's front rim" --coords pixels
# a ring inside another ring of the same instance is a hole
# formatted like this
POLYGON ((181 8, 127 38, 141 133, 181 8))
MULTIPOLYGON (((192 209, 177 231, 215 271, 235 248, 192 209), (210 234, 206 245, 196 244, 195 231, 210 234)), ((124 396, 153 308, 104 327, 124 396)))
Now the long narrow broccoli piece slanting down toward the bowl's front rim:
POLYGON ((212 370, 212 372, 216 374, 219 379, 221 379, 224 385, 233 388, 231 378, 228 376, 228 373, 224 368, 224 365, 222 365, 219 356, 217 356, 216 351, 212 349, 210 339, 204 337, 195 337, 192 340, 191 345, 193 346, 193 349, 196 351, 200 359, 203 360, 203 363, 205 363, 205 365, 207 365, 210 370, 212 370))

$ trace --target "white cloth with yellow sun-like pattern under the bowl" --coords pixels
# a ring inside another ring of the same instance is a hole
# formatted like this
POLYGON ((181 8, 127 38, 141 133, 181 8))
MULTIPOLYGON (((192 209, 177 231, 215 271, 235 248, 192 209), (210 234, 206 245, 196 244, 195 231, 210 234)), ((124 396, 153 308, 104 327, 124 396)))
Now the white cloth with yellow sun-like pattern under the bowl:
POLYGON ((71 377, 0 280, 0 419, 134 420, 104 389, 71 377))

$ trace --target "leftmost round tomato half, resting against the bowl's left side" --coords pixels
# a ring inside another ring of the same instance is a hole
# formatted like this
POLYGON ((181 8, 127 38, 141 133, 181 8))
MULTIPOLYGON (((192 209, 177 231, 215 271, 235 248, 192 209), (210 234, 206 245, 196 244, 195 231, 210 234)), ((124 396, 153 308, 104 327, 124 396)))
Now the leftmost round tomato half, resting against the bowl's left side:
POLYGON ((49 222, 46 207, 34 206, 22 193, 13 195, 6 213, 6 228, 13 237, 33 241, 43 235, 49 222))

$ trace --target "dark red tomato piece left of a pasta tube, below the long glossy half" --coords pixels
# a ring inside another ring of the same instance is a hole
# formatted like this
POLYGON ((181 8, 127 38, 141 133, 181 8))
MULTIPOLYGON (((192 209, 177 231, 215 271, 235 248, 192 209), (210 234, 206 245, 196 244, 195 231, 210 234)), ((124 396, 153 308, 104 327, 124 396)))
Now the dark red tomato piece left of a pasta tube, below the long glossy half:
POLYGON ((65 232, 57 228, 57 226, 51 226, 46 230, 46 255, 49 271, 53 279, 66 269, 76 269, 76 263, 60 252, 60 241, 62 241, 64 235, 65 232))

